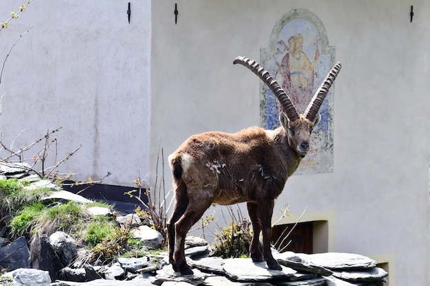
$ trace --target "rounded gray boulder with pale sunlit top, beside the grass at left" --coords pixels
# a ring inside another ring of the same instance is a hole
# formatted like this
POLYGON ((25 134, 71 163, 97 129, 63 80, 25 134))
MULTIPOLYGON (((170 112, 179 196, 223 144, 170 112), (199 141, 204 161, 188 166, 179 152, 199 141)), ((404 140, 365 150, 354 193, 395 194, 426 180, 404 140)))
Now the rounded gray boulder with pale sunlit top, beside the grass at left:
POLYGON ((49 236, 49 244, 51 244, 58 257, 60 257, 61 263, 65 266, 69 265, 78 255, 76 241, 63 231, 57 231, 49 236))

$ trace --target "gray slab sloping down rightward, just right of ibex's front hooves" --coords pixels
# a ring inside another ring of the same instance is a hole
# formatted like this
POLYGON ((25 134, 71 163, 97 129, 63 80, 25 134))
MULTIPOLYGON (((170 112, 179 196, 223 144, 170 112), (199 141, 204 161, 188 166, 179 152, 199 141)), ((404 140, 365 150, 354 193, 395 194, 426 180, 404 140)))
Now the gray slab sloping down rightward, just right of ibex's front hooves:
POLYGON ((287 251, 274 254, 273 257, 278 260, 280 265, 293 268, 293 270, 315 273, 322 276, 330 276, 332 274, 330 270, 310 262, 308 260, 309 254, 287 251))

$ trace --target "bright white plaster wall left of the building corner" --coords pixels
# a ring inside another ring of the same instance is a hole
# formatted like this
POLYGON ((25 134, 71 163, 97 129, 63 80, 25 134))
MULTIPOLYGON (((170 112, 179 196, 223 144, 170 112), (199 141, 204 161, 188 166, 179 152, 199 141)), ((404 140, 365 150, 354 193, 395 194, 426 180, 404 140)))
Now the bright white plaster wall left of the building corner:
MULTIPOLYGON (((26 0, 0 1, 0 22, 26 0)), ((34 0, 0 32, 0 62, 14 40, 0 95, 1 139, 24 147, 62 127, 58 159, 82 145, 60 172, 132 185, 148 172, 151 2, 34 0)), ((27 152, 32 158, 43 145, 27 152)), ((49 150, 54 159, 56 150, 49 150)), ((51 164, 52 165, 52 164, 51 164)), ((50 165, 49 165, 50 166, 50 165)))

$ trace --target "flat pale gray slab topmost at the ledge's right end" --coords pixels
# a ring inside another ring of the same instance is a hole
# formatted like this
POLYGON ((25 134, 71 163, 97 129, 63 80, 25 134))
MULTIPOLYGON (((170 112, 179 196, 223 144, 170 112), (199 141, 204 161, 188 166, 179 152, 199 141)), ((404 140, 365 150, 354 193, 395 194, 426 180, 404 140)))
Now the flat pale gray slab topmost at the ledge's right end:
POLYGON ((328 268, 330 270, 375 267, 376 261, 360 254, 328 252, 309 254, 307 260, 310 263, 328 268))

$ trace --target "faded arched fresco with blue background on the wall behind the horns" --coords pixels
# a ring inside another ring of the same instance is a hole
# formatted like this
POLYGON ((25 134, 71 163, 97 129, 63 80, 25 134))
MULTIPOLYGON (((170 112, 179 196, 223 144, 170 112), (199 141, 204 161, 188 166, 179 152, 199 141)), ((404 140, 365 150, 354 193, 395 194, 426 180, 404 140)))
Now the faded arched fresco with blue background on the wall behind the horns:
MULTIPOLYGON (((328 45, 326 29, 318 17, 306 9, 287 12, 273 27, 269 47, 260 50, 262 66, 273 75, 303 113, 313 94, 335 64, 335 47, 328 45)), ((333 91, 324 100, 321 122, 313 131, 311 150, 295 174, 333 171, 333 91)), ((279 126, 279 106, 275 96, 260 84, 261 125, 279 126)))

